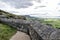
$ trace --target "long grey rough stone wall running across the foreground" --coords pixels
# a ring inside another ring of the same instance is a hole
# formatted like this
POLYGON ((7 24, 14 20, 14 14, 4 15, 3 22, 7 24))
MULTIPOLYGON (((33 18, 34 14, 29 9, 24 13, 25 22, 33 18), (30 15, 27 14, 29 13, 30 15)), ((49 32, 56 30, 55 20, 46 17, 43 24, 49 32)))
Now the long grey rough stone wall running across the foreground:
POLYGON ((60 38, 60 30, 43 25, 38 21, 0 18, 0 22, 27 33, 31 40, 57 40, 60 38))

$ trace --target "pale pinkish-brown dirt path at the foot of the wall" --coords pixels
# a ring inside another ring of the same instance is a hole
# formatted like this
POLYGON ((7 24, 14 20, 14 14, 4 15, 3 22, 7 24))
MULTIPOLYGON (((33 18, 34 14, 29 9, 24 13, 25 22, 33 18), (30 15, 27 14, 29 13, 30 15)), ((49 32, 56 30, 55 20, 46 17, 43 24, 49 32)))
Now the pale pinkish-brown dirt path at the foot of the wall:
POLYGON ((30 37, 23 32, 17 31, 10 40, 30 40, 30 37))

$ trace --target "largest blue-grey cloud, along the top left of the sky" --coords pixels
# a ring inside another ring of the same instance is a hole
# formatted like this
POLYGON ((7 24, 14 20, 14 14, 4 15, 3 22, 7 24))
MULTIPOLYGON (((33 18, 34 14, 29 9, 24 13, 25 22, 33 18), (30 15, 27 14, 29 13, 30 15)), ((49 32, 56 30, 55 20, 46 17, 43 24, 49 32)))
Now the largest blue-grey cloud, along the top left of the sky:
POLYGON ((6 2, 15 8, 27 8, 33 5, 32 0, 0 0, 0 1, 6 2))

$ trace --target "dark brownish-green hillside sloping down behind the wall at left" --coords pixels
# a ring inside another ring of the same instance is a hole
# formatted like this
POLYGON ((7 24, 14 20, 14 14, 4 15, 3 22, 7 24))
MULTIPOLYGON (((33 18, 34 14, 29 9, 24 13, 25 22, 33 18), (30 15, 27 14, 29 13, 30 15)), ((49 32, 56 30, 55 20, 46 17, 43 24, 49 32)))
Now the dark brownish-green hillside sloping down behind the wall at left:
POLYGON ((5 12, 3 10, 0 10, 0 17, 6 17, 6 18, 15 18, 15 19, 24 19, 26 20, 26 18, 24 16, 21 15, 15 15, 9 12, 5 12))

